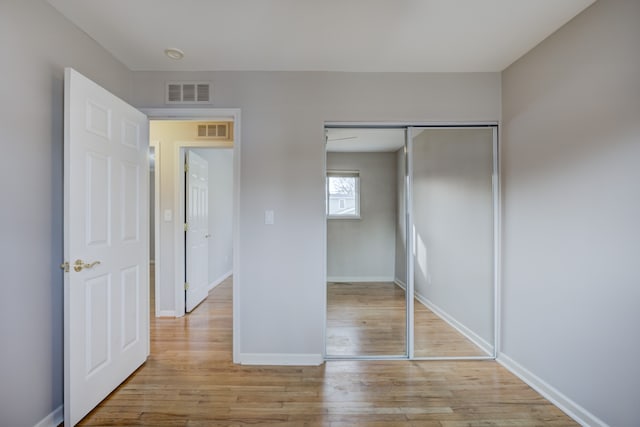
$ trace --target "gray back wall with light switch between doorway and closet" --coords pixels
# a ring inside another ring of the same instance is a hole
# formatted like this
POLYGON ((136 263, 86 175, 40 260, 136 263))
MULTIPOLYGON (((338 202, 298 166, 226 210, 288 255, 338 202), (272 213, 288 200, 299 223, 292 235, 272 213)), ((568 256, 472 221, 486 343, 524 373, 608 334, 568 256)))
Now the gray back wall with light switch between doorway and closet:
POLYGON ((499 73, 134 72, 134 105, 164 107, 173 80, 211 81, 213 107, 242 109, 241 354, 323 352, 325 121, 500 117, 499 73))

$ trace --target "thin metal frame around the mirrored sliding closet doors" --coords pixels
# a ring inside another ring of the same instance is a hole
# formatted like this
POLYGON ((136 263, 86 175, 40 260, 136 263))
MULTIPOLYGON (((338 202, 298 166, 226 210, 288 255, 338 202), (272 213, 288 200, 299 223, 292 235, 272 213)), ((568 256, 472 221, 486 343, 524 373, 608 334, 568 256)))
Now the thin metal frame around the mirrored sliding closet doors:
MULTIPOLYGON (((427 122, 427 121, 408 121, 408 122, 337 122, 325 121, 323 129, 327 128, 404 128, 405 129, 405 162, 407 169, 407 190, 405 193, 405 207, 407 209, 406 226, 407 226, 407 304, 406 304, 406 355, 405 356, 337 356, 327 355, 327 221, 324 221, 323 232, 323 287, 324 287, 324 307, 323 307, 323 356, 325 360, 495 360, 501 352, 501 241, 502 241, 502 188, 501 188, 501 162, 500 162, 500 123, 498 121, 481 121, 481 122, 427 122), (493 128, 493 175, 492 175, 492 191, 493 191, 493 351, 487 356, 452 356, 452 357, 416 357, 413 348, 413 274, 414 265, 413 257, 410 255, 413 250, 413 236, 408 229, 413 224, 412 209, 413 200, 410 195, 412 188, 412 128, 493 128), (410 297, 411 296, 411 297, 410 297)), ((323 132, 323 135, 325 133, 323 132)), ((323 138, 323 144, 326 145, 326 138, 323 138)), ((327 176, 327 156, 326 149, 323 150, 323 171, 324 177, 327 176)), ((326 192, 325 192, 326 193, 326 192)), ((325 207, 326 209, 326 207, 325 207)))

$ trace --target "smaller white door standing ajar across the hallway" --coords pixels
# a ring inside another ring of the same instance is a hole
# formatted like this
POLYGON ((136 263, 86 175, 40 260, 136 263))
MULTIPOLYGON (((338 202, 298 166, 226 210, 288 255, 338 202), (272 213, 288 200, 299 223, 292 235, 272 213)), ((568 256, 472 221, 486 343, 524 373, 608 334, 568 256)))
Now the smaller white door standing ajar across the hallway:
POLYGON ((186 153, 186 305, 192 311, 209 291, 209 163, 186 153))

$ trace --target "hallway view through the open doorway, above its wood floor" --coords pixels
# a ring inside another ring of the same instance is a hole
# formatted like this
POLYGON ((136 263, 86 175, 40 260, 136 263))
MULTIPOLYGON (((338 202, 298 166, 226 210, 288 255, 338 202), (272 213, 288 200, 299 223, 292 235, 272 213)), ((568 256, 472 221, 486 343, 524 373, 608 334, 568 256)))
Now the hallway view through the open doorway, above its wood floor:
POLYGON ((233 273, 239 141, 233 116, 150 119, 156 316, 180 317, 233 273), (185 165, 196 158, 199 168, 188 173, 185 165))

